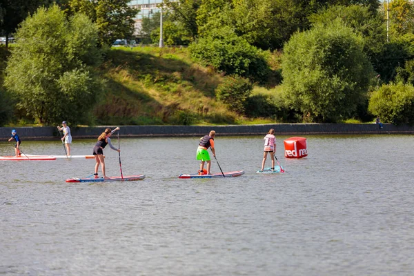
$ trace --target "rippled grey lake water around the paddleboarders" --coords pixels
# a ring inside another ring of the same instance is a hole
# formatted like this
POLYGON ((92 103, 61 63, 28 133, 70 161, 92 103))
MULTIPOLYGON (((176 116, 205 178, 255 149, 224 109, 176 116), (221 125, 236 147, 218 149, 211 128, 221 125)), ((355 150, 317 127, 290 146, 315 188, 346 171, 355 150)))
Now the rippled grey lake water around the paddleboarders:
MULTIPOLYGON (((278 175, 255 173, 263 137, 219 134, 221 168, 245 175, 177 179, 197 171, 199 137, 121 139, 124 175, 143 181, 65 182, 94 160, 0 161, 0 275, 413 275, 414 136, 305 137, 304 159, 277 137, 278 175)), ((21 149, 64 154, 59 141, 21 149)))

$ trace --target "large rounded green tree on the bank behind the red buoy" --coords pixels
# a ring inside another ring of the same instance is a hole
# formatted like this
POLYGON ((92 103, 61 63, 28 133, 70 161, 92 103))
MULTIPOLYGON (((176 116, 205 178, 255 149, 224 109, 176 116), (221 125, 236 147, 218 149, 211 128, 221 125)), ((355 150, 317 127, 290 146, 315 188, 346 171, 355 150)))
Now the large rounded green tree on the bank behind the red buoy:
POLYGON ((339 20, 293 35, 282 58, 289 105, 310 121, 351 117, 373 76, 363 46, 362 38, 339 20))

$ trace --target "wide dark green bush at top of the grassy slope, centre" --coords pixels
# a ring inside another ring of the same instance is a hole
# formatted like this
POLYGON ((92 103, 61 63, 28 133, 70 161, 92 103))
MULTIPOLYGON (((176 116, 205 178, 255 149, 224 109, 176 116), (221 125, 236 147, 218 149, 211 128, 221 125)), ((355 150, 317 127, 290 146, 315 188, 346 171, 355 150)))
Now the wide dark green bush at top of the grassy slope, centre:
POLYGON ((194 59, 228 75, 240 75, 266 81, 269 72, 266 52, 251 46, 230 27, 215 29, 190 44, 194 59))

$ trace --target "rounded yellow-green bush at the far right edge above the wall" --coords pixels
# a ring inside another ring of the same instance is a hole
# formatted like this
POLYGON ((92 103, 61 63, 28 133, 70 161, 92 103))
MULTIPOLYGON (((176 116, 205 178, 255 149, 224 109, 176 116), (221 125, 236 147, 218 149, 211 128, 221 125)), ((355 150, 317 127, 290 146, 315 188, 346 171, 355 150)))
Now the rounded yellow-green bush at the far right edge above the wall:
POLYGON ((385 123, 414 124, 414 87, 397 83, 384 85, 371 94, 368 110, 385 123))

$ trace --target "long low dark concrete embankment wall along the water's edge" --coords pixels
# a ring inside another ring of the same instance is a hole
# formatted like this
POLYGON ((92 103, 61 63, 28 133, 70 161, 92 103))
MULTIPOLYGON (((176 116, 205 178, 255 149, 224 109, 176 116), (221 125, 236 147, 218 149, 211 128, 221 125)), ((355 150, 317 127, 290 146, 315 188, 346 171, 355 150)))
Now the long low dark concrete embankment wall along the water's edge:
MULTIPOLYGON (((111 128, 111 126, 109 126, 111 128)), ((96 138, 106 126, 72 127, 72 137, 96 138)), ((112 126, 112 129, 115 126, 112 126)), ((266 124, 250 126, 120 126, 121 137, 186 137, 206 135, 215 130, 217 135, 264 135, 270 128, 275 129, 276 135, 337 135, 337 134, 414 134, 413 126, 393 126, 384 124, 378 128, 375 124, 266 124)), ((12 129, 23 140, 43 139, 52 140, 59 137, 55 127, 21 127, 0 128, 0 141, 6 141, 11 136, 12 129)))

